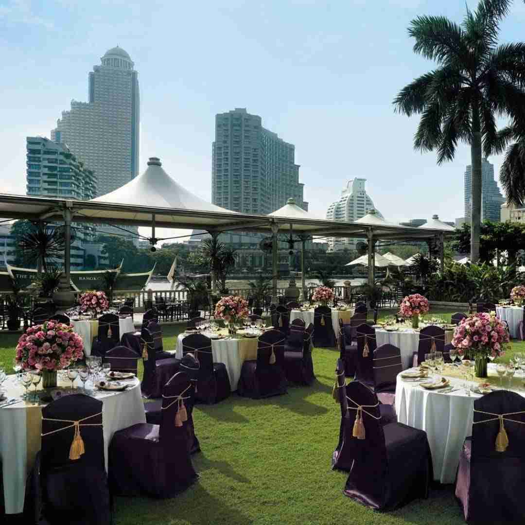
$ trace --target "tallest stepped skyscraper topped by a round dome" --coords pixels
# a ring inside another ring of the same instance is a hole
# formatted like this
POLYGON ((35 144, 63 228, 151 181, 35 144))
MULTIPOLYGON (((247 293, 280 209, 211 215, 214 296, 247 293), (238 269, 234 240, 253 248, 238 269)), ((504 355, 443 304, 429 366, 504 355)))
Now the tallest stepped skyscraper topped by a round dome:
POLYGON ((126 51, 113 47, 89 73, 89 102, 71 101, 51 140, 65 142, 98 175, 97 196, 138 175, 138 72, 126 51))

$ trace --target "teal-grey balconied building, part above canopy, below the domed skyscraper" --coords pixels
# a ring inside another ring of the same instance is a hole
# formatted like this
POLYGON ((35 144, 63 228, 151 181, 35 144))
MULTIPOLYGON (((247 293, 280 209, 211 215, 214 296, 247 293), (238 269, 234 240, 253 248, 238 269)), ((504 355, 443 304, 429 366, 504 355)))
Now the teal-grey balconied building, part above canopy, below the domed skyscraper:
POLYGON ((97 191, 97 176, 66 144, 44 137, 27 137, 27 195, 70 197, 89 201, 97 191))

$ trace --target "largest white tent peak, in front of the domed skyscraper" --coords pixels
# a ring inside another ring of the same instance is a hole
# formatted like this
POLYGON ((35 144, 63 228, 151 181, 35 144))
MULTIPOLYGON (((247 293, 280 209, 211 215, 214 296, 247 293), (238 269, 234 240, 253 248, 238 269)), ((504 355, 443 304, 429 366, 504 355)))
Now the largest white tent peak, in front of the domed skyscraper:
POLYGON ((150 157, 147 169, 139 176, 117 188, 117 190, 94 198, 93 201, 151 206, 155 208, 236 213, 209 203, 186 190, 162 169, 162 164, 158 157, 150 157))

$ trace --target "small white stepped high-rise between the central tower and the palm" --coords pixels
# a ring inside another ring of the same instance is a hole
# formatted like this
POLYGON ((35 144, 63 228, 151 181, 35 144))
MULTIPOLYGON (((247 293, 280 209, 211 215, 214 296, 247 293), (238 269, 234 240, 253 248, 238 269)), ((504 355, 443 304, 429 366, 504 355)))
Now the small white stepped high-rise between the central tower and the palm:
MULTIPOLYGON (((372 199, 366 193, 365 182, 366 178, 353 178, 348 181, 341 192, 339 201, 333 202, 328 207, 326 218, 352 223, 354 220, 364 217, 371 208, 376 210, 378 217, 383 218, 383 215, 375 208, 372 199)), ((359 239, 329 238, 328 250, 354 249, 357 240, 359 239)))

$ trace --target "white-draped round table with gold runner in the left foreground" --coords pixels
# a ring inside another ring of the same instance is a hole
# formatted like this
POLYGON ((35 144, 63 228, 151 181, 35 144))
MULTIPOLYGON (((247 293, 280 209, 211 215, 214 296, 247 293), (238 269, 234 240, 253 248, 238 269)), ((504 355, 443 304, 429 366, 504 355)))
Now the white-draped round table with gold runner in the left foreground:
MULTIPOLYGON (((123 392, 96 391, 93 393, 97 399, 102 401, 106 471, 108 470, 108 447, 113 434, 117 430, 136 423, 146 422, 140 381, 135 378, 130 383, 132 386, 123 392)), ((71 382, 58 380, 58 386, 66 385, 70 386, 71 382)), ((25 390, 21 384, 16 382, 14 375, 7 377, 3 387, 8 399, 19 398, 25 390)), ((32 392, 34 387, 29 387, 29 390, 32 392)), ((77 388, 77 392, 82 393, 82 389, 77 388)), ((35 405, 21 400, 13 405, 0 408, 0 459, 3 469, 6 514, 17 514, 24 510, 26 477, 40 450, 43 406, 45 405, 35 405)))

